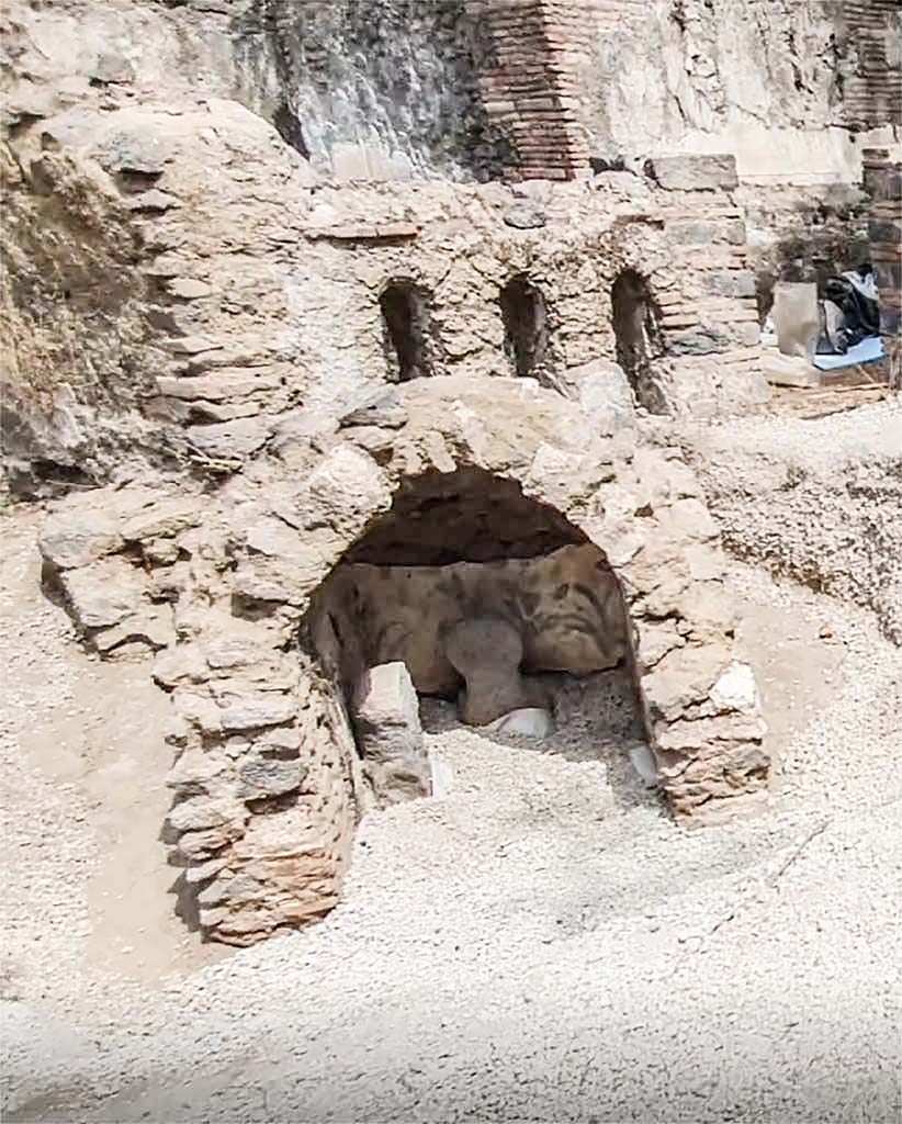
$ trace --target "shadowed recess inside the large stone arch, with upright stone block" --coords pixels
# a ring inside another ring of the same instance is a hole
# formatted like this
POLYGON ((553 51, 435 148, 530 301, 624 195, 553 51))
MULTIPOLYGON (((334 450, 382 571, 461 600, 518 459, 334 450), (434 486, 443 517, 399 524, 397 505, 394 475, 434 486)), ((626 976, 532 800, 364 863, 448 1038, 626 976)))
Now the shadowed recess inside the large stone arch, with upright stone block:
POLYGON ((619 581, 516 480, 472 466, 404 480, 315 595, 306 635, 377 803, 427 795, 428 735, 457 726, 513 738, 523 768, 526 737, 635 786, 645 733, 619 581))

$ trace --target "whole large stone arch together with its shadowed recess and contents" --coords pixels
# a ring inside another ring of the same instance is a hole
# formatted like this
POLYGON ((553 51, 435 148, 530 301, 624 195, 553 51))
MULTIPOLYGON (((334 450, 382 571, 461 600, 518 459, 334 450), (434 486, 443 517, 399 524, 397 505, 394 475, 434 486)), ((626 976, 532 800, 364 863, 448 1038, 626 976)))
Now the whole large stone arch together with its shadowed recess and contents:
POLYGON ((540 672, 620 664, 675 816, 766 798, 717 529, 677 450, 601 438, 531 380, 416 379, 201 487, 71 497, 42 551, 89 644, 157 653, 166 837, 210 937, 322 915, 361 815, 428 797, 417 691, 541 735, 540 672))

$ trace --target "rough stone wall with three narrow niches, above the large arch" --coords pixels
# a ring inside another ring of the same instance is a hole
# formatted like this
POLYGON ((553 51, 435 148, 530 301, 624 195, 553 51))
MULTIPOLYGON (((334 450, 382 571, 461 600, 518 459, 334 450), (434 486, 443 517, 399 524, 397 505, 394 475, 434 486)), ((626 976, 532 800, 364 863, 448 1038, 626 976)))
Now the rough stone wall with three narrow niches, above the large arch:
MULTIPOLYGON (((399 278, 430 297, 435 374, 505 378, 500 294, 527 278, 548 310, 547 361, 531 373, 610 427, 629 414, 611 366, 610 294, 635 269, 662 310, 658 395, 645 405, 710 415, 766 397, 735 172, 719 157, 549 184, 528 207, 500 185, 315 192, 272 126, 215 99, 182 112, 67 110, 22 130, 11 152, 8 199, 27 218, 8 232, 10 305, 33 334, 28 246, 40 216, 72 228, 93 207, 116 232, 99 242, 104 273, 127 255, 107 309, 93 243, 45 246, 63 279, 44 270, 40 284, 74 318, 73 345, 48 374, 47 405, 30 400, 27 425, 17 415, 20 460, 78 460, 102 480, 127 447, 133 463, 226 469, 280 433, 334 428, 385 380, 380 297, 399 278), (56 167, 65 175, 47 173, 56 167), (74 447, 57 429, 60 396, 74 447)), ((11 401, 35 381, 19 378, 11 401)))

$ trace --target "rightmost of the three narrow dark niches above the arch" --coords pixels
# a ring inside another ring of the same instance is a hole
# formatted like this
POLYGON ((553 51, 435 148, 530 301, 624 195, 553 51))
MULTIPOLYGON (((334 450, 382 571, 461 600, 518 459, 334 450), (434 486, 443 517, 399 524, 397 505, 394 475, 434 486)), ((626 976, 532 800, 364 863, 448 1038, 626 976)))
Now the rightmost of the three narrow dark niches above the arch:
POLYGON ((646 279, 637 270, 623 270, 611 288, 611 315, 617 341, 617 362, 629 379, 636 401, 653 414, 666 404, 653 378, 653 364, 664 353, 660 312, 646 279))

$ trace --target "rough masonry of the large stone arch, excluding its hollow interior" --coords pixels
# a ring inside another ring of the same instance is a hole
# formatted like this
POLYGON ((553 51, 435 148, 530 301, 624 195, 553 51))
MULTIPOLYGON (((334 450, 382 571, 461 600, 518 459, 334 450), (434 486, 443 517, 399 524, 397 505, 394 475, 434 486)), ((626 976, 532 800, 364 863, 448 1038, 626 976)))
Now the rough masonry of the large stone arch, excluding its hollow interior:
POLYGON ((335 565, 423 473, 516 480, 604 553, 677 816, 707 822, 766 798, 717 528, 678 452, 602 439, 578 406, 514 380, 422 379, 394 393, 375 425, 284 435, 207 495, 93 491, 61 504, 42 534, 48 577, 92 644, 160 649, 154 676, 175 713, 167 831, 218 940, 259 940, 335 904, 368 797, 306 623, 335 565), (373 428, 385 433, 379 459, 373 428), (166 637, 143 624, 161 606, 166 637))

